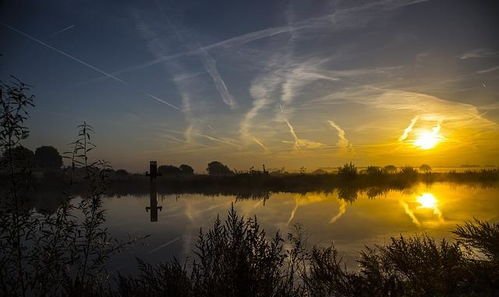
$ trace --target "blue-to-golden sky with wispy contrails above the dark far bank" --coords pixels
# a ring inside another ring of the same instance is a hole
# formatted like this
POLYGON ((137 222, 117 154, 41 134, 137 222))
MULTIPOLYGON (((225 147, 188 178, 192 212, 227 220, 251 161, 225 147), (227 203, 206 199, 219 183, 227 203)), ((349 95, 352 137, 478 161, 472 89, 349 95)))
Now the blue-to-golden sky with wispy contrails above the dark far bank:
POLYGON ((86 121, 135 172, 497 166, 494 2, 4 0, 0 79, 32 85, 25 146, 86 121))

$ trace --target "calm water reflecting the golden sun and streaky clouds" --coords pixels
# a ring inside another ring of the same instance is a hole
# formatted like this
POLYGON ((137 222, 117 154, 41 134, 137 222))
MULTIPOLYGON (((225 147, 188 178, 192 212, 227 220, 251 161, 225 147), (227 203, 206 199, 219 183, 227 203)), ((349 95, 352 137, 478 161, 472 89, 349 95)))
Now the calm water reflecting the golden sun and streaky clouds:
POLYGON ((336 192, 275 193, 265 202, 234 196, 158 194, 156 209, 150 195, 109 197, 104 208, 114 236, 151 235, 117 255, 110 269, 133 271, 135 256, 158 263, 191 255, 199 229, 209 228, 217 215, 225 217, 231 204, 239 214, 256 215, 268 234, 287 233, 300 224, 309 246, 334 242, 350 266, 363 246, 386 243, 391 236, 426 232, 452 238, 449 231, 466 220, 499 220, 499 188, 451 183, 420 184, 374 199, 360 193, 353 202, 339 199, 336 192))

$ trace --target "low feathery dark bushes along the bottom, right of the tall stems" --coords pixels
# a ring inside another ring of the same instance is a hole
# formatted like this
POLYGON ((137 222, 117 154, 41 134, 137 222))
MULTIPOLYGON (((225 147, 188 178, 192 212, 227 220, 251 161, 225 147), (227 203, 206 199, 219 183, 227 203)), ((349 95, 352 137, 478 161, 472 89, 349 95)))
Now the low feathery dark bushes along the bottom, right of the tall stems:
MULTIPOLYGON (((464 232, 467 240, 497 248, 497 238, 482 235, 499 225, 466 225, 475 230, 464 232)), ((392 238, 366 247, 351 271, 333 245, 308 250, 300 229, 287 240, 266 236, 256 218, 231 209, 225 222, 200 232, 191 264, 139 261, 142 274, 120 277, 118 286, 120 296, 496 296, 498 263, 477 262, 466 242, 392 238)))

